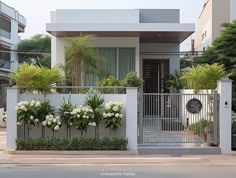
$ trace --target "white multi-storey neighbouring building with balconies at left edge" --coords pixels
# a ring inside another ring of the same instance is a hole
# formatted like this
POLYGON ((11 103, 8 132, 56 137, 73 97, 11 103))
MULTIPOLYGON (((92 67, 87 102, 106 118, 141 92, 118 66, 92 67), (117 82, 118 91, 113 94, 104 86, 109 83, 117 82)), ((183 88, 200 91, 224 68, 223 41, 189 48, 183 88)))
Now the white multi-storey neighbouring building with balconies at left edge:
POLYGON ((24 32, 25 25, 26 20, 18 11, 0 1, 0 108, 6 105, 7 75, 18 67, 17 54, 10 50, 16 49, 18 33, 24 32))

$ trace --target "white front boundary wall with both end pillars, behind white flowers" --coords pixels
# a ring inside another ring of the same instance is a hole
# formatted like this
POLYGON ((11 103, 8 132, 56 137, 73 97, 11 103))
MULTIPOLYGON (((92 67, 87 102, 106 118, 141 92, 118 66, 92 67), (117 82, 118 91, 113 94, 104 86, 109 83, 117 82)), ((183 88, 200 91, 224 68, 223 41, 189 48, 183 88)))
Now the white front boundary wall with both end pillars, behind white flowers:
MULTIPOLYGON (((122 127, 117 131, 114 137, 122 137, 128 139, 127 148, 129 150, 137 150, 137 88, 127 88, 126 94, 104 94, 102 95, 105 102, 122 102, 124 103, 124 119, 122 127)), ((16 149, 16 139, 22 137, 22 129, 17 130, 17 113, 16 105, 20 101, 31 101, 31 100, 43 100, 44 95, 40 94, 20 94, 19 88, 13 87, 7 89, 7 149, 16 149)), ((56 109, 60 106, 63 99, 68 100, 71 98, 71 102, 77 106, 82 105, 86 98, 85 94, 48 94, 46 99, 49 100, 50 104, 56 109)), ((30 131, 30 135, 33 137, 39 137, 40 128, 33 128, 30 131)), ((56 137, 63 136, 65 128, 61 128, 56 137), (62 133, 63 132, 63 133, 62 133)), ((90 128, 87 136, 94 136, 94 128, 90 128)), ((101 128, 101 137, 112 136, 108 133, 107 129, 101 128)), ((77 131, 79 133, 79 131, 77 131)), ((47 129, 46 135, 50 136, 51 131, 47 129)), ((79 135, 79 134, 78 134, 79 135)))

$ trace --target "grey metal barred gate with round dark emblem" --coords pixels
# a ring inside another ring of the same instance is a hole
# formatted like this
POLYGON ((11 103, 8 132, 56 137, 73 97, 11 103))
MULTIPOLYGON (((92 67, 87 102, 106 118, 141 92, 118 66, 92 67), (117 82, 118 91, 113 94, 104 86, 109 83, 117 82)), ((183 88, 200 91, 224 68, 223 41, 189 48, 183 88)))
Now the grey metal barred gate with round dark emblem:
POLYGON ((140 145, 218 144, 218 95, 140 93, 140 145))

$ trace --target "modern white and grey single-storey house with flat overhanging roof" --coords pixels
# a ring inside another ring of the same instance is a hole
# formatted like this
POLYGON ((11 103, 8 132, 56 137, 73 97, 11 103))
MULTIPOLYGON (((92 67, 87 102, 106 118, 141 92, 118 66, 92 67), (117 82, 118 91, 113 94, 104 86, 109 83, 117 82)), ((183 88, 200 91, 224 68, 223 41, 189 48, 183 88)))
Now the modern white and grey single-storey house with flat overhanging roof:
MULTIPOLYGON (((144 92, 163 92, 167 74, 180 69, 180 43, 195 28, 179 17, 176 9, 53 11, 46 25, 53 35, 52 66, 65 62, 65 37, 94 34, 91 47, 105 58, 106 73, 123 79, 136 71, 144 79, 144 92)), ((82 76, 82 85, 95 84, 96 77, 82 76)))

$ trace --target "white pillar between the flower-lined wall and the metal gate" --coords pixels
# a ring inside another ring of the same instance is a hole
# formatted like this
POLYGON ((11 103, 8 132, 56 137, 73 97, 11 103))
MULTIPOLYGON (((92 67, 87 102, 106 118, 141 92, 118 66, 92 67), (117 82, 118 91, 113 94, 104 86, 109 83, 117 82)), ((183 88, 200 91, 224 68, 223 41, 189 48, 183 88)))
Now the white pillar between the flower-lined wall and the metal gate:
POLYGON ((126 137, 128 149, 137 150, 138 89, 126 88, 126 137))

